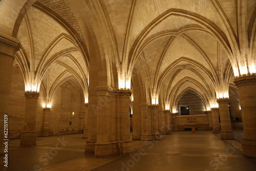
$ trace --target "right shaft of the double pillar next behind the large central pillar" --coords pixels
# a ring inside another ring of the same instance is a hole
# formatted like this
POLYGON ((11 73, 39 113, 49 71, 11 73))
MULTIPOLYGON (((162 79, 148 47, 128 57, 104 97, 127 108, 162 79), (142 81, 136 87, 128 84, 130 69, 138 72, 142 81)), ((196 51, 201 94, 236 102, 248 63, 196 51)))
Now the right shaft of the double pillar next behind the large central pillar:
POLYGON ((151 108, 151 116, 153 119, 153 129, 152 129, 152 137, 156 140, 160 139, 160 134, 159 134, 159 127, 158 127, 158 105, 156 104, 151 104, 150 105, 151 108))

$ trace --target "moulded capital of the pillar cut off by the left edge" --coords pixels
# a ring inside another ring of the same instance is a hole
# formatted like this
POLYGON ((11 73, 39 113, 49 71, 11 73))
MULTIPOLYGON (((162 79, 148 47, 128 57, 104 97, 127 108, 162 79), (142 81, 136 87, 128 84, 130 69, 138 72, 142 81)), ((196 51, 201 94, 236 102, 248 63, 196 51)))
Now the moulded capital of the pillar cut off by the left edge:
POLYGON ((18 40, 8 35, 0 34, 0 53, 14 59, 14 54, 20 49, 18 40))

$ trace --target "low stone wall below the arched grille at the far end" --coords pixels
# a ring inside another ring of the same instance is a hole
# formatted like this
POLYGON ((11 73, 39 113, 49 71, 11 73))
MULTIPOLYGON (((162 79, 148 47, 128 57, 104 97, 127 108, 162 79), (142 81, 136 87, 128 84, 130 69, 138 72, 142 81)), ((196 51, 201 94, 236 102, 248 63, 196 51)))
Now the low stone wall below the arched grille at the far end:
POLYGON ((184 131, 185 128, 196 127, 197 130, 210 130, 208 115, 183 115, 176 116, 176 125, 178 131, 184 131), (193 117, 193 119, 190 119, 193 117), (189 122, 194 120, 195 122, 189 122), (196 118, 196 119, 194 119, 196 118))

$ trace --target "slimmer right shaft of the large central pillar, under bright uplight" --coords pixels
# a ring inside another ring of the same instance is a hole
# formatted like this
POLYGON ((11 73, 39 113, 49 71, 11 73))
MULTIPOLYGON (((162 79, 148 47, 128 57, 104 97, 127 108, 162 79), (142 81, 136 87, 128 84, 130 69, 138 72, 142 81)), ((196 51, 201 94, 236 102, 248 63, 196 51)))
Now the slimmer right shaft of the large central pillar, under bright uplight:
POLYGON ((119 117, 120 117, 120 152, 133 152, 133 143, 130 133, 130 90, 119 90, 119 117))

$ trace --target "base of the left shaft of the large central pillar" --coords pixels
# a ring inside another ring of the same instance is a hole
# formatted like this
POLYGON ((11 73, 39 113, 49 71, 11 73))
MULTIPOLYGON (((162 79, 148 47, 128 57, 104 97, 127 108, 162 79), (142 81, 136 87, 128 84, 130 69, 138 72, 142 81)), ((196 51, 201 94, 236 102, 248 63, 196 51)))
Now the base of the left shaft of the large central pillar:
POLYGON ((95 143, 94 155, 97 157, 107 157, 116 154, 116 143, 97 144, 95 143))

